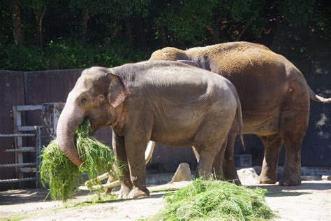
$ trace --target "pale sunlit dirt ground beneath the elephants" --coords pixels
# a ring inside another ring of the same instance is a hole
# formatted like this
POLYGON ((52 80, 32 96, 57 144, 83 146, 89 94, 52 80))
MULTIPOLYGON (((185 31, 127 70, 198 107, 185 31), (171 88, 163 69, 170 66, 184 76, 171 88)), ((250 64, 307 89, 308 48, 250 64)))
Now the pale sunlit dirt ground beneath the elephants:
MULTIPOLYGON (((267 204, 277 214, 275 220, 331 220, 331 181, 303 181, 297 187, 256 185, 256 173, 239 171, 244 185, 267 189, 267 204)), ((46 190, 10 190, 0 192, 0 220, 136 220, 149 218, 163 208, 165 192, 189 182, 149 187, 151 196, 135 200, 108 200, 91 203, 88 192, 68 203, 43 201, 46 190), (165 191, 167 190, 167 191, 165 191), (84 204, 77 204, 85 202, 84 204)))

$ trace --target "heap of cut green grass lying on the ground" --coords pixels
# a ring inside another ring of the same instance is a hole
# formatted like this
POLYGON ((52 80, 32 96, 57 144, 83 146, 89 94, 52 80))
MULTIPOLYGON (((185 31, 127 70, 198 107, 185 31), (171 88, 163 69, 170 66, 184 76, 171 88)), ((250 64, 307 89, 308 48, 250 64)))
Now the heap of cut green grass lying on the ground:
POLYGON ((256 220, 273 217, 265 203, 265 190, 250 189, 219 180, 195 180, 165 195, 165 208, 156 220, 256 220))

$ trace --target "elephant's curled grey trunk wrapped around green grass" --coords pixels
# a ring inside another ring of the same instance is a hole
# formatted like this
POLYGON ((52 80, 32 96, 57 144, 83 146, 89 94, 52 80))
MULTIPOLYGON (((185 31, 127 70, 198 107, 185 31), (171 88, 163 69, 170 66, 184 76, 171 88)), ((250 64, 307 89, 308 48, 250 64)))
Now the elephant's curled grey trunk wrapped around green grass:
POLYGON ((75 131, 83 120, 84 114, 82 110, 67 103, 57 124, 57 141, 59 142, 59 147, 64 152, 64 155, 77 166, 82 164, 82 159, 80 159, 78 150, 75 147, 75 131))

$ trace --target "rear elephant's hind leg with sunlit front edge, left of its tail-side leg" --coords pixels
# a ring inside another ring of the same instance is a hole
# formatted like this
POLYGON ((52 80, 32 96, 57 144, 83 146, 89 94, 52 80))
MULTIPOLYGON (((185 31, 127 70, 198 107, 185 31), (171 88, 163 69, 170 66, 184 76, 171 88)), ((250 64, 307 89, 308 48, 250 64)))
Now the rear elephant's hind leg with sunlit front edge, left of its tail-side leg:
POLYGON ((270 136, 259 136, 265 146, 265 157, 263 159, 262 171, 258 178, 260 183, 276 183, 278 174, 278 161, 281 146, 284 141, 279 134, 270 136))

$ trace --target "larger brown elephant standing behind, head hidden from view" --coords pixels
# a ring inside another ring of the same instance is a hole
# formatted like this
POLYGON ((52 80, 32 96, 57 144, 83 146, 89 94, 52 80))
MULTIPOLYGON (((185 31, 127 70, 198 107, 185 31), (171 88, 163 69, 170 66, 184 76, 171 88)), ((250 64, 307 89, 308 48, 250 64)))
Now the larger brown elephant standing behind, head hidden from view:
MULTIPOLYGON (((285 144, 284 176, 280 185, 301 184, 301 147, 309 122, 310 99, 328 103, 309 88, 302 73, 285 57, 254 43, 221 43, 203 48, 163 48, 150 60, 173 60, 198 66, 227 78, 242 102, 244 134, 256 134, 265 146, 260 183, 276 183, 279 152, 285 144)), ((223 162, 227 179, 236 179, 233 148, 237 130, 228 136, 224 157, 216 157, 216 173, 223 162)))

